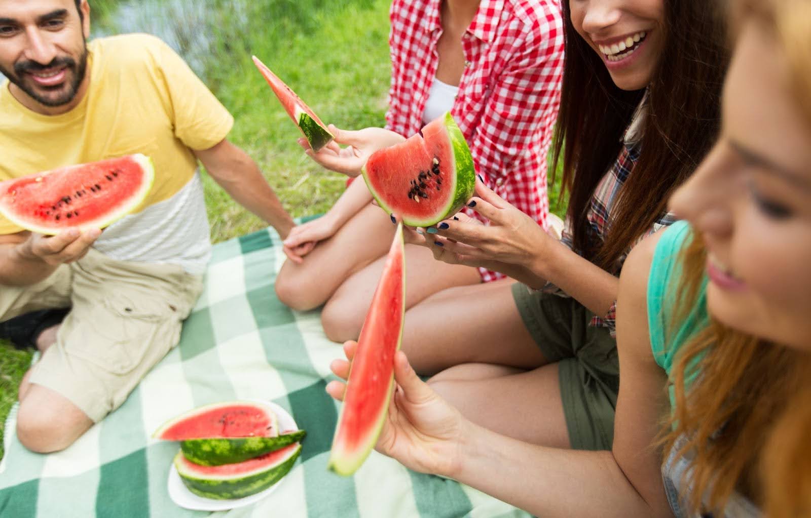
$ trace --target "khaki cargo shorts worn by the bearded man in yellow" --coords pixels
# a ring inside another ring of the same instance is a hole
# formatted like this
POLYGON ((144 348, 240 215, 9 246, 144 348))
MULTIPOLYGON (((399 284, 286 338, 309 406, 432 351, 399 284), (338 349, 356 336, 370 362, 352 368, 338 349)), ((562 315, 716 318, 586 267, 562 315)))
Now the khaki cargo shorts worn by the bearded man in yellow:
POLYGON ((91 249, 36 285, 0 286, 0 321, 71 307, 29 381, 99 422, 178 344, 202 288, 201 276, 178 265, 118 261, 91 249))

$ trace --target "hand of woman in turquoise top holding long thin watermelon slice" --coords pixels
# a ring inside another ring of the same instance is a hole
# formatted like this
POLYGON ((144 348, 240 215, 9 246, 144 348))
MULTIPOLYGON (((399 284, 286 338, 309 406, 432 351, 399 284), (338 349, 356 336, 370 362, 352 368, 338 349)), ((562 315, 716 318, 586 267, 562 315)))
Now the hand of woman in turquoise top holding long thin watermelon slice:
MULTIPOLYGON (((357 349, 357 342, 346 342, 344 353, 349 361, 334 360, 330 365, 339 378, 348 378, 357 349)), ((402 351, 394 357, 394 380, 388 415, 375 450, 419 473, 454 477, 461 464, 458 445, 466 437, 470 422, 419 379, 402 351)), ((327 385, 328 394, 339 401, 344 400, 345 390, 345 383, 340 381, 327 385)))

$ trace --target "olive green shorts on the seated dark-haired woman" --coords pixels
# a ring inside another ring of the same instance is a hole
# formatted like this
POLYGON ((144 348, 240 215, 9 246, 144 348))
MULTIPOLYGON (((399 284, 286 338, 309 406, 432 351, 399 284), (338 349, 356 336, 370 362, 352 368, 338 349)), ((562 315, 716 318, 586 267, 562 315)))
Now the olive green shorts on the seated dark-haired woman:
POLYGON ((515 300, 527 330, 549 362, 557 362, 569 442, 578 450, 610 450, 620 390, 616 340, 573 298, 516 283, 515 300))

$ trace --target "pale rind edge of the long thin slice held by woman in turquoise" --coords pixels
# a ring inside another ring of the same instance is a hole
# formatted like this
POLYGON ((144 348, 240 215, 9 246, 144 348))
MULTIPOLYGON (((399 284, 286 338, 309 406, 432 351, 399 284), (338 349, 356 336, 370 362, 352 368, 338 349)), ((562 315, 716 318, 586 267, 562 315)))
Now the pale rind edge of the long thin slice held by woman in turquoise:
MULTIPOLYGON (((381 280, 387 276, 387 273, 391 269, 396 268, 397 265, 394 262, 397 259, 399 259, 401 262, 402 304, 400 307, 400 330, 397 333, 397 346, 395 351, 400 349, 400 345, 402 343, 402 330, 405 323, 405 243, 403 242, 402 224, 397 225, 397 232, 394 234, 392 247, 388 251, 388 258, 384 264, 383 274, 380 276, 381 280)), ((369 314, 371 314, 371 308, 375 307, 375 302, 378 301, 378 295, 379 293, 375 291, 375 296, 372 299, 369 314)), ((367 318, 369 314, 367 314, 367 318)), ((363 330, 361 330, 361 337, 358 339, 358 343, 361 343, 361 340, 363 340, 363 330)), ((341 413, 338 416, 335 436, 333 438, 333 446, 330 449, 329 460, 327 463, 328 469, 331 469, 333 472, 344 477, 350 477, 356 471, 358 471, 358 468, 360 468, 363 462, 367 459, 371 453, 371 450, 374 449, 377 439, 380 437, 380 431, 383 430, 384 422, 388 417, 388 405, 391 404, 391 394, 393 393, 394 387, 394 374, 392 372, 391 379, 389 380, 388 389, 386 391, 388 396, 384 398, 384 404, 381 406, 379 413, 374 418, 374 421, 371 421, 370 419, 370 422, 373 422, 373 425, 368 429, 366 440, 364 440, 358 447, 350 450, 348 447, 345 447, 344 444, 341 444, 341 422, 344 419, 345 409, 347 408, 346 401, 350 394, 351 383, 352 370, 350 369, 349 379, 347 380, 346 384, 346 397, 344 399, 344 405, 341 406, 341 413)))

